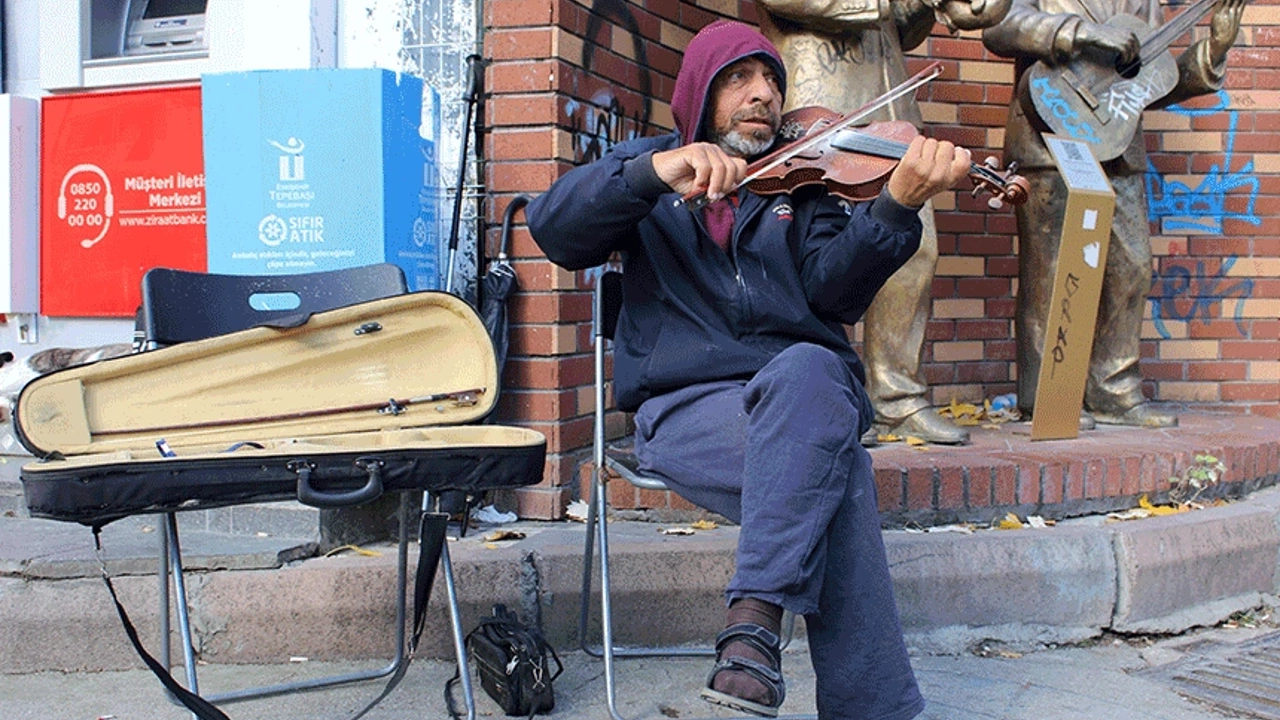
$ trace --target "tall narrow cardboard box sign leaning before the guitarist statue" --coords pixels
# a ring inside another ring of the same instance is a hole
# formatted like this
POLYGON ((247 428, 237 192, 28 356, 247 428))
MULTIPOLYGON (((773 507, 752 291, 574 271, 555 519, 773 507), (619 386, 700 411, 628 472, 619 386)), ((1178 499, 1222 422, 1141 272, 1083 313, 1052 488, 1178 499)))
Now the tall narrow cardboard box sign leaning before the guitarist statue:
POLYGON ((1044 142, 1062 173, 1068 196, 1036 384, 1032 439, 1061 439, 1080 432, 1116 201, 1087 143, 1055 135, 1046 135, 1044 142))

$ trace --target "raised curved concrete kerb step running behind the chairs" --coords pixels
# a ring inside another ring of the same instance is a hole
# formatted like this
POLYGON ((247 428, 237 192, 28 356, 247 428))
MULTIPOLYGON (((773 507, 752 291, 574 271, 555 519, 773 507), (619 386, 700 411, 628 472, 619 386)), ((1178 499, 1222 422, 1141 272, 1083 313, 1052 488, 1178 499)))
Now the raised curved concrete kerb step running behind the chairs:
MULTIPOLYGON (((1176 633, 1257 607, 1276 592, 1280 489, 1221 507, 1047 529, 973 534, 886 532, 908 641, 923 653, 964 652, 983 639, 1018 650, 1079 642, 1103 630, 1176 633)), ((156 536, 134 518, 104 530, 108 568, 142 637, 157 632, 156 536)), ((154 523, 154 520, 152 520, 154 523)), ((614 523, 620 642, 707 642, 723 623, 737 528, 692 536, 614 523)), ((524 521, 524 539, 451 542, 470 626, 495 602, 540 619, 549 639, 577 638, 584 527, 524 521)), ((288 538, 186 533, 197 651, 211 664, 291 656, 390 656, 396 552, 291 561, 288 538)), ((415 553, 416 555, 416 553, 415 553)), ((412 557, 411 557, 412 562, 412 557)), ((443 583, 425 647, 449 647, 443 583)), ((0 673, 138 667, 100 579, 88 529, 0 518, 0 673)), ((177 656, 177 653, 175 653, 177 656)))

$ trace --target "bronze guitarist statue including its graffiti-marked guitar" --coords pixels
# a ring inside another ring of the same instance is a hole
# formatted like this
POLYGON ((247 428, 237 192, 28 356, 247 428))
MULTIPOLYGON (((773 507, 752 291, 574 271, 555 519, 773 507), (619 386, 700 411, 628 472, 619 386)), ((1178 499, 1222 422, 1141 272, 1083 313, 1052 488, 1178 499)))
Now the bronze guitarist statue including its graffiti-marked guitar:
POLYGON ((1030 183, 1029 201, 1016 209, 1015 333, 1021 410, 1034 411, 1066 206, 1066 187, 1041 137, 1053 129, 1094 149, 1116 193, 1082 428, 1094 419, 1158 428, 1178 424, 1172 413, 1146 401, 1138 368, 1143 305, 1151 292, 1140 115, 1144 108, 1172 105, 1222 87, 1226 54, 1235 42, 1245 1, 1197 3, 1162 27, 1158 0, 1012 0, 1009 14, 983 31, 983 42, 992 53, 1016 59, 1019 87, 1009 109, 1004 160, 1016 161, 1030 183), (1176 40, 1172 36, 1193 24, 1201 8, 1213 9, 1210 35, 1176 60, 1166 60, 1167 45, 1176 40))

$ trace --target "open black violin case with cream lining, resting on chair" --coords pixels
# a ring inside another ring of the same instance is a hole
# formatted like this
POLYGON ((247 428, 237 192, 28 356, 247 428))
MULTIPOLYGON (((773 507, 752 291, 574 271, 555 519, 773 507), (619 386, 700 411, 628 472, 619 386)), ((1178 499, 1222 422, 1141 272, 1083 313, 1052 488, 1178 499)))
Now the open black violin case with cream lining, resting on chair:
POLYGON ((398 295, 50 373, 14 427, 32 516, 101 527, 143 512, 535 484, 547 441, 481 424, 493 343, 465 301, 398 295))

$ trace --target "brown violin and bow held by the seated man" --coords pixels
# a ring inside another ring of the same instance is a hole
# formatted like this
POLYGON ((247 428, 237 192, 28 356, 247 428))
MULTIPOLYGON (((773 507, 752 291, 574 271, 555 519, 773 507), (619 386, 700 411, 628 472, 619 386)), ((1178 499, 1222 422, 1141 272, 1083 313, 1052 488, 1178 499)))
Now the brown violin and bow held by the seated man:
MULTIPOLYGON (((735 190, 745 186, 759 195, 777 195, 809 184, 824 184, 828 192, 846 200, 860 202, 874 199, 918 131, 911 123, 901 120, 872 123, 856 131, 850 128, 941 73, 942 64, 932 63, 906 82, 844 115, 817 106, 791 110, 782 117, 780 129, 786 145, 748 165, 746 177, 735 190)), ((1025 202, 1029 186, 1014 170, 1016 164, 1001 172, 995 158, 988 158, 983 165, 970 163, 973 193, 991 192, 988 205, 993 209, 1005 201, 1014 205, 1025 202)), ((686 205, 690 210, 707 204, 705 192, 676 201, 676 205, 686 205)))

